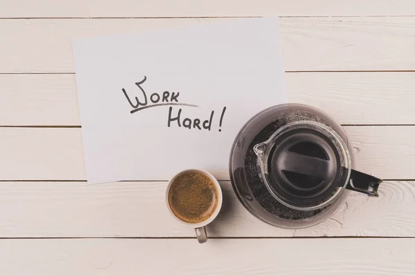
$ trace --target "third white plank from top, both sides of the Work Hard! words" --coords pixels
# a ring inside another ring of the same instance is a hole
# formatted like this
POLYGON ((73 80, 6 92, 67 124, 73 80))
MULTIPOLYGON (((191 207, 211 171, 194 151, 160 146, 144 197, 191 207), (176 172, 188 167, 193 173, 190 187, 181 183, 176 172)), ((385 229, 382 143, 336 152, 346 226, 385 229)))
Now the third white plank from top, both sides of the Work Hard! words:
MULTIPOLYGON (((341 124, 415 124, 415 72, 287 73, 286 81, 291 102, 341 124)), ((80 126, 75 75, 0 75, 0 93, 0 126, 80 126)))

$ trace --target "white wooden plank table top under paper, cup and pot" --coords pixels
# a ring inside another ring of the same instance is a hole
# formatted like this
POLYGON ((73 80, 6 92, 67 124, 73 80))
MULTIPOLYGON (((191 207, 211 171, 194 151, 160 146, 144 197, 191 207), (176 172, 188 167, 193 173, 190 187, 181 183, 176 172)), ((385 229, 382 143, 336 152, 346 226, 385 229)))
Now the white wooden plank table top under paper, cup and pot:
POLYGON ((1 2, 0 275, 415 275, 415 1, 1 2), (378 199, 287 230, 221 181, 199 245, 168 179, 86 184, 71 39, 262 16, 280 17, 290 101, 344 126, 378 199))

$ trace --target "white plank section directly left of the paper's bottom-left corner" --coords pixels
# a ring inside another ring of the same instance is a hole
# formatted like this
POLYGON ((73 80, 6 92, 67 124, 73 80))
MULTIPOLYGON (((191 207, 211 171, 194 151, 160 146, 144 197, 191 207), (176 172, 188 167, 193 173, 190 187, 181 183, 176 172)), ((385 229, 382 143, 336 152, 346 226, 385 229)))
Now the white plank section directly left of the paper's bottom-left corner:
POLYGON ((86 179, 78 128, 0 128, 0 179, 86 179))

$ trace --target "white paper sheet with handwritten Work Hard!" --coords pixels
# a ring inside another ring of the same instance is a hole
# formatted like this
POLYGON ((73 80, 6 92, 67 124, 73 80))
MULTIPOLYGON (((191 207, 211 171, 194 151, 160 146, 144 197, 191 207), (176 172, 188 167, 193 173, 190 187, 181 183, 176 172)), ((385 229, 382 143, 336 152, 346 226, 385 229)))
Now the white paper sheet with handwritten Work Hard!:
POLYGON ((288 101, 275 18, 79 39, 73 48, 92 184, 167 180, 186 168, 229 179, 218 172, 228 172, 243 124, 288 101), (170 110, 171 119, 181 112, 180 127, 168 126, 170 110))

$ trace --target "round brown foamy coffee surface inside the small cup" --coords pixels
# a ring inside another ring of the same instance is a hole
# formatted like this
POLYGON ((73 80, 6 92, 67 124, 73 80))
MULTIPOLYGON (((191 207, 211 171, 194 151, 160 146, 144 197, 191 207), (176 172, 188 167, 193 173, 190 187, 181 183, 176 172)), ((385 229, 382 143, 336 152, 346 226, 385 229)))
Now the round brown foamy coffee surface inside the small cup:
POLYGON ((199 172, 187 172, 174 179, 169 189, 169 206, 178 219, 190 224, 205 221, 218 206, 214 182, 199 172))

